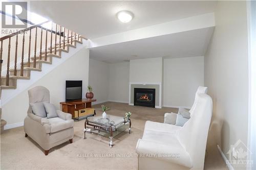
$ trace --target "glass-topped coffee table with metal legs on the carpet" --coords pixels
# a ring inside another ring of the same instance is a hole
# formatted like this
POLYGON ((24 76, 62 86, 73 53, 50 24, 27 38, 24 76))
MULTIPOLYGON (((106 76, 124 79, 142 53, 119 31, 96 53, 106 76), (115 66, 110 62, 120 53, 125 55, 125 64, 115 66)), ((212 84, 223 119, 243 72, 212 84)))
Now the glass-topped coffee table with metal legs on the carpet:
POLYGON ((110 148, 112 148, 112 139, 116 135, 129 128, 129 134, 131 133, 131 119, 126 119, 120 116, 106 115, 106 118, 102 116, 87 117, 84 122, 84 139, 86 139, 86 132, 95 133, 104 137, 110 138, 110 148))

